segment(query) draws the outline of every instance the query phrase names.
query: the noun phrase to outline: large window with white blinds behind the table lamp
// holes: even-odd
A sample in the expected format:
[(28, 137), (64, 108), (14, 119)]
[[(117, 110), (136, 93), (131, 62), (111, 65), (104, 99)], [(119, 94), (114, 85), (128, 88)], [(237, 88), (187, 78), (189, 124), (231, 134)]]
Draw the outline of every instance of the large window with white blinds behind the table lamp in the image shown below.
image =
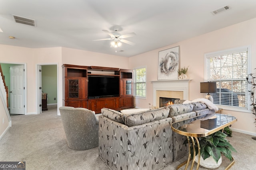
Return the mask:
[[(205, 55), (206, 81), (216, 82), (213, 103), (225, 109), (250, 111), (246, 76), (249, 70), (249, 47), (231, 49)], [(239, 111), (242, 111), (239, 110)]]

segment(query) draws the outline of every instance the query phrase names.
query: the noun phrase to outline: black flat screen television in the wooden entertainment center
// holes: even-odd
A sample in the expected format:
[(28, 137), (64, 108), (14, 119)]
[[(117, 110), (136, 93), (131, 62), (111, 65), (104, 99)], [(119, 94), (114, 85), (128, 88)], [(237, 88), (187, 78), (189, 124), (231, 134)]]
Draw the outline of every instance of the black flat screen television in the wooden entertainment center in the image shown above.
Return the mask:
[(119, 96), (119, 77), (88, 76), (88, 98)]

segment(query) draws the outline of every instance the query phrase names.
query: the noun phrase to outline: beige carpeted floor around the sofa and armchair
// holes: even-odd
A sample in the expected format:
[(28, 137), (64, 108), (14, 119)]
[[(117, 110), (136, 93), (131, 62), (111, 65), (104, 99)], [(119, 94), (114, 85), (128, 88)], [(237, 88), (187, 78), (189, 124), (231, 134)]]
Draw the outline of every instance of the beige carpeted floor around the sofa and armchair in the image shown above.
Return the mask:
[[(108, 170), (98, 156), (98, 147), (82, 151), (68, 148), (56, 106), (48, 106), (48, 111), (39, 115), (13, 115), (11, 118), (12, 127), (0, 141), (0, 161), (26, 161), (26, 170)], [(230, 170), (256, 169), (256, 141), (251, 137), (238, 132), (228, 137), (237, 150), (232, 153), (235, 164)], [(174, 170), (184, 160), (186, 156), (162, 170)], [(229, 163), (222, 156), (217, 170), (224, 170)]]

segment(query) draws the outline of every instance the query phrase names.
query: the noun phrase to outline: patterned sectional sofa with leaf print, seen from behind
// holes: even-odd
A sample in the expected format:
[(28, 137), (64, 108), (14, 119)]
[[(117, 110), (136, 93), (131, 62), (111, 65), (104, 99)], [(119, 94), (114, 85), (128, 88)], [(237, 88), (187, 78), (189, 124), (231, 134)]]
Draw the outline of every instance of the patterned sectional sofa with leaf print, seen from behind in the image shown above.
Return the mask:
[(182, 158), (188, 147), (173, 122), (215, 114), (205, 104), (174, 104), (124, 114), (103, 108), (99, 116), (99, 156), (111, 170), (159, 170)]

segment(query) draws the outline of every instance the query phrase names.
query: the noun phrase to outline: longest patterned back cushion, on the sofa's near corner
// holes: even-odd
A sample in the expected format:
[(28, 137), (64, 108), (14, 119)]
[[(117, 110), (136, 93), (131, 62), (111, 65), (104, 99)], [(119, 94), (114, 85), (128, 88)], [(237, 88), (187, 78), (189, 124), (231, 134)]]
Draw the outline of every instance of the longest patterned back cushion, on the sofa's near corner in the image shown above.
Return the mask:
[(141, 111), (138, 113), (132, 113), (130, 115), (123, 115), (125, 117), (125, 125), (131, 127), (167, 118), (169, 110), (170, 109), (165, 106), (158, 109)]

